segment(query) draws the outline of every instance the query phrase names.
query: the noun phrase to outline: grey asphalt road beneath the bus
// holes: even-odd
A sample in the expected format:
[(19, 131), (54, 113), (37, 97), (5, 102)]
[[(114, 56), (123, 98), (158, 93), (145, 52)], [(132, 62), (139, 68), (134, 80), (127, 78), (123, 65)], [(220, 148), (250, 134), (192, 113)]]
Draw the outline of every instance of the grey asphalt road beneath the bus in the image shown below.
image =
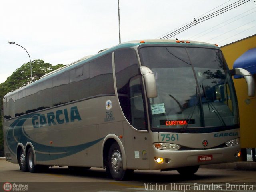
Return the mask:
[(53, 167), (47, 172), (30, 173), (17, 164), (0, 160), (0, 191), (54, 192), (143, 192), (143, 191), (255, 191), (256, 172), (200, 168), (184, 177), (176, 171), (134, 171), (126, 182), (108, 178), (102, 168), (81, 172)]

